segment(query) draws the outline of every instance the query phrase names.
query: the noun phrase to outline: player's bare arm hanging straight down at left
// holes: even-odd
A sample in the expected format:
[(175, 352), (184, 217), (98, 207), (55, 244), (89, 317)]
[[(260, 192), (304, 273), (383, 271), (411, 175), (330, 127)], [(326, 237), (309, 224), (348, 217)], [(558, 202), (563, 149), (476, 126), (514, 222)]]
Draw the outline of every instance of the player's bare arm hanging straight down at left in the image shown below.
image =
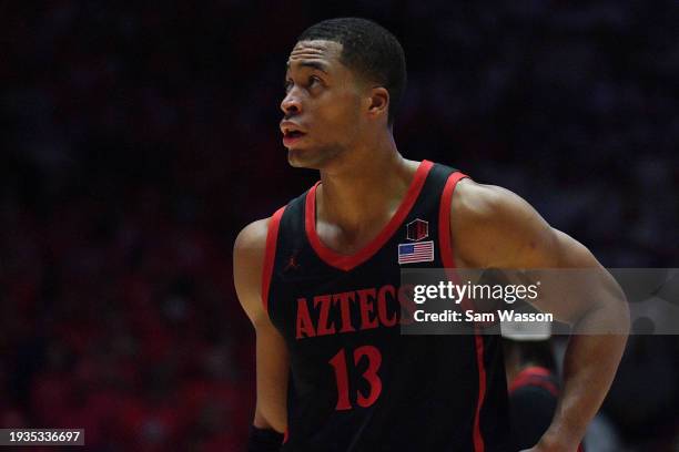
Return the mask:
[(285, 342), (272, 325), (262, 302), (262, 267), (268, 219), (254, 222), (236, 238), (233, 274), (243, 309), (255, 328), (257, 402), (254, 425), (283, 433), (287, 427), (287, 378), (290, 361)]

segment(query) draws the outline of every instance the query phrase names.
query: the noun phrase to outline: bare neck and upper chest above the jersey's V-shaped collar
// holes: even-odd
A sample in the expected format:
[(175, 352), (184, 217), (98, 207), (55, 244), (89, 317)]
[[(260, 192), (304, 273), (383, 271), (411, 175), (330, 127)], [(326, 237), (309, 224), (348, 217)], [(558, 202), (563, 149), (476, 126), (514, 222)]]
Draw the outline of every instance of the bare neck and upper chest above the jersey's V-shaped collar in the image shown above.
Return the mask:
[(355, 251), (388, 223), (406, 195), (417, 163), (396, 146), (353, 153), (341, 168), (321, 171), (316, 191), (318, 233), (331, 247)]

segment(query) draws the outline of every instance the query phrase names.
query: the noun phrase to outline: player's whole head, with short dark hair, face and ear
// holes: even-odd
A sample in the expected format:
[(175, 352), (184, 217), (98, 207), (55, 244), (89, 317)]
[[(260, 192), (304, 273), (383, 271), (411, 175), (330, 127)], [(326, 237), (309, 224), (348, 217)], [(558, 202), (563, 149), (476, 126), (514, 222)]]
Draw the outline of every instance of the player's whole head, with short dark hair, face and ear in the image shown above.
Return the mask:
[(376, 132), (388, 133), (406, 83), (396, 38), (365, 19), (331, 19), (304, 31), (285, 74), (281, 123), (288, 161), (321, 168)]

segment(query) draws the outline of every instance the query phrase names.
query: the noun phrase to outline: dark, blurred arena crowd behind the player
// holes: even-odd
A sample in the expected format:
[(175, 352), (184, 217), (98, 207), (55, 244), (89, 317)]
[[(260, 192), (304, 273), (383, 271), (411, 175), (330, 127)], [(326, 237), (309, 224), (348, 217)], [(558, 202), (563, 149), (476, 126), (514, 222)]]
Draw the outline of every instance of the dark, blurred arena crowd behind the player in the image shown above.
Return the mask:
[[(677, 2), (8, 3), (0, 428), (242, 446), (232, 245), (316, 177), (287, 166), (278, 103), (295, 37), (336, 16), (404, 45), (405, 156), (517, 192), (606, 266), (679, 267)], [(630, 339), (604, 409), (625, 450), (679, 446), (678, 342)]]

